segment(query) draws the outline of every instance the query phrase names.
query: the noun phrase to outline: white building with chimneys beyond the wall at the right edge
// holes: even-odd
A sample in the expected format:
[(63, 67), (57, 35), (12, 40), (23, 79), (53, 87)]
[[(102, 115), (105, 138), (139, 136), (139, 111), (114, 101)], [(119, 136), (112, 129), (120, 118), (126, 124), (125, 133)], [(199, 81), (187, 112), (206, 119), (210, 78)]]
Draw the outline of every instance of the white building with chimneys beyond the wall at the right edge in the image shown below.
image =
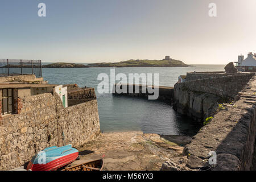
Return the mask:
[(256, 71), (256, 54), (252, 52), (248, 53), (248, 56), (243, 60), (243, 56), (238, 56), (237, 68), (242, 69), (243, 71), (254, 72)]

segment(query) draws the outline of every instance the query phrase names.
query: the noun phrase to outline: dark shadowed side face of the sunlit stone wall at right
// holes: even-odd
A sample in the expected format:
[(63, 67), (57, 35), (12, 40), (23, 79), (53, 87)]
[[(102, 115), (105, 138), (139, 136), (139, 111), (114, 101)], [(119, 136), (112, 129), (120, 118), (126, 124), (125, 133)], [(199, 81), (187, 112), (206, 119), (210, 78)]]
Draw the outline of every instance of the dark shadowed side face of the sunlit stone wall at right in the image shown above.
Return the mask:
[(213, 170), (250, 170), (255, 141), (255, 109), (247, 109), (232, 131), (217, 147), (217, 166)]

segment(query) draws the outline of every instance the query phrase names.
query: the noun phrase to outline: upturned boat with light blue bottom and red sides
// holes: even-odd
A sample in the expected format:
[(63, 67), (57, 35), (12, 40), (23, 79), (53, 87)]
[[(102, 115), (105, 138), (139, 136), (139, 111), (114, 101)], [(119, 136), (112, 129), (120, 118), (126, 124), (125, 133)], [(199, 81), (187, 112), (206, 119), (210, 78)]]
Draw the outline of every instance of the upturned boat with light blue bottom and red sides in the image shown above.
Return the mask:
[(55, 171), (79, 157), (79, 151), (71, 144), (63, 147), (47, 147), (35, 155), (27, 165), (27, 170)]

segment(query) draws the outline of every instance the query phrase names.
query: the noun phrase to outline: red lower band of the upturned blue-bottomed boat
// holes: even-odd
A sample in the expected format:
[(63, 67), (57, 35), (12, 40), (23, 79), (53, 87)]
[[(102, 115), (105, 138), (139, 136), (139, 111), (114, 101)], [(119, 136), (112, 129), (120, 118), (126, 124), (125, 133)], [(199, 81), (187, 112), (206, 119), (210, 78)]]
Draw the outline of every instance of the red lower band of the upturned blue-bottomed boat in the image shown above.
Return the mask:
[(55, 171), (60, 167), (63, 167), (69, 163), (72, 163), (79, 156), (78, 152), (63, 156), (59, 159), (52, 160), (47, 164), (33, 164), (28, 163), (27, 170), (31, 169), (32, 171)]

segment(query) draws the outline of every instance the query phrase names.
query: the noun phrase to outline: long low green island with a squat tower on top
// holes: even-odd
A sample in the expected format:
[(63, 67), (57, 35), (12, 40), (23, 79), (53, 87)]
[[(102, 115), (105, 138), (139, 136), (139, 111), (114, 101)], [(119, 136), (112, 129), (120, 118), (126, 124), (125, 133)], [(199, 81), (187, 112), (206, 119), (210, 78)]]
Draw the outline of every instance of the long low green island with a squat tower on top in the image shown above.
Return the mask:
[(191, 67), (183, 63), (183, 61), (175, 59), (163, 60), (128, 60), (118, 63), (93, 63), (88, 64), (89, 67)]

